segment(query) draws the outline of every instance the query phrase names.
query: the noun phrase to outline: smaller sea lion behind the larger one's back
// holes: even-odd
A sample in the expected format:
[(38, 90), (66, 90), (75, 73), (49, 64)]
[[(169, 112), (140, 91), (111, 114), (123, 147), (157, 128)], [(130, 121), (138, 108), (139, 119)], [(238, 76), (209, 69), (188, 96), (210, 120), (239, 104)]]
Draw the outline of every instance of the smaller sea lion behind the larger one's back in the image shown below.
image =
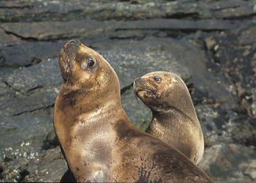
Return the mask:
[(169, 72), (153, 72), (134, 81), (134, 92), (152, 111), (146, 132), (172, 145), (196, 165), (204, 154), (204, 136), (186, 84)]

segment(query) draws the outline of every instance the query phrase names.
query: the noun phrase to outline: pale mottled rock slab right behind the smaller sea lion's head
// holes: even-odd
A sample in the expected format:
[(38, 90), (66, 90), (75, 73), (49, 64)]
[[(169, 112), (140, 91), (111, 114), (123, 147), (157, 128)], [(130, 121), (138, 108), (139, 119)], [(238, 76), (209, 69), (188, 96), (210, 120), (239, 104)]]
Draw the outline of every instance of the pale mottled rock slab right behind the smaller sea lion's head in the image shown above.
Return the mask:
[(146, 73), (170, 71), (191, 76), (191, 82), (198, 90), (218, 98), (219, 102), (234, 101), (233, 94), (228, 91), (230, 84), (223, 77), (216, 80), (211, 75), (205, 67), (207, 59), (204, 52), (193, 41), (150, 37), (125, 43), (116, 41), (106, 50), (99, 52), (115, 69), (121, 88), (131, 85), (135, 78)]

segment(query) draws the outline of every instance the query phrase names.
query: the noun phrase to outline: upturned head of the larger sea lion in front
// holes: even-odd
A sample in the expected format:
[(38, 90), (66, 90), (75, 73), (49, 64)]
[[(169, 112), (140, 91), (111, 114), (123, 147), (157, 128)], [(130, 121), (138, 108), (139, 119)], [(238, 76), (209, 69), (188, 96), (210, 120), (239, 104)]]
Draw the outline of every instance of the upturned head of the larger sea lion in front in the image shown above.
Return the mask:
[(59, 64), (68, 92), (120, 91), (118, 77), (109, 63), (79, 40), (64, 45)]

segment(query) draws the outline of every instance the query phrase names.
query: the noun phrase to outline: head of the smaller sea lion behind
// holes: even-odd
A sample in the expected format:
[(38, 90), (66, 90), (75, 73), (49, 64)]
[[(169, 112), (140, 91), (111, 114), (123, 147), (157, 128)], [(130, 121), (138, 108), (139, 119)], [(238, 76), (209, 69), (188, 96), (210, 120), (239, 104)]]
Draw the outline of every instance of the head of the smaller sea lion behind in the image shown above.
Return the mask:
[(182, 99), (189, 94), (178, 75), (164, 71), (152, 72), (136, 78), (133, 88), (135, 94), (152, 112), (180, 108), (184, 105)]

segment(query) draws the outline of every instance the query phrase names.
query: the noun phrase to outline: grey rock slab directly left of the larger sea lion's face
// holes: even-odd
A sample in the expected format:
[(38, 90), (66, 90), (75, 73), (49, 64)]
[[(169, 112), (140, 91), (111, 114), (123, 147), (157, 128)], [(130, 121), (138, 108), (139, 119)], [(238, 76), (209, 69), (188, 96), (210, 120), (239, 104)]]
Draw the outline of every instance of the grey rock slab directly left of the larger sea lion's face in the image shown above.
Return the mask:
[(42, 86), (60, 85), (62, 82), (58, 59), (49, 59), (28, 68), (19, 68), (3, 77), (3, 81), (22, 94)]

